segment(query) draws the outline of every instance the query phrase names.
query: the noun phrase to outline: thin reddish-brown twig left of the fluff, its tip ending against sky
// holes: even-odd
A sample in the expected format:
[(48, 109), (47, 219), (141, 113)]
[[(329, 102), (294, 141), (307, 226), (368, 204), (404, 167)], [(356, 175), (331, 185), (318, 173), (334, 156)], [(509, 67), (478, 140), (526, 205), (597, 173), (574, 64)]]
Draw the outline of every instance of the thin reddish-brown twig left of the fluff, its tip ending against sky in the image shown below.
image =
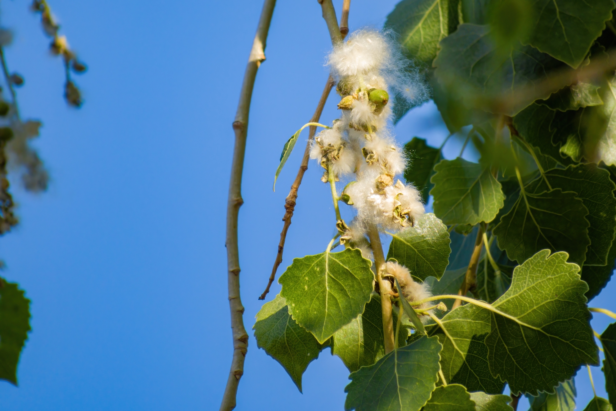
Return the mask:
[[(315, 110), (310, 123), (317, 123), (319, 118), (321, 117), (321, 113), (323, 112), (323, 107), (325, 107), (325, 102), (327, 101), (327, 97), (330, 95), (331, 88), (334, 86), (334, 80), (329, 76), (327, 79), (327, 83), (325, 83), (325, 88), (323, 89), (323, 93), (321, 94), (321, 99), (318, 100), (317, 110)], [(317, 126), (310, 126), (310, 132), (308, 134), (308, 142), (306, 144), (306, 150), (304, 150), (304, 157), (302, 158), (302, 164), (299, 166), (298, 175), (295, 177), (295, 181), (293, 185), (291, 185), (291, 191), (289, 195), (286, 196), (285, 200), (285, 216), (282, 218), (282, 221), (285, 222), (285, 225), (282, 227), (282, 232), (280, 232), (280, 242), (278, 243), (278, 254), (276, 254), (276, 260), (274, 261), (274, 267), (272, 267), (272, 274), (270, 275), (269, 282), (267, 282), (267, 287), (265, 287), (265, 291), (261, 294), (259, 299), (265, 299), (267, 293), (269, 293), (270, 287), (272, 287), (272, 283), (274, 283), (274, 279), (276, 277), (276, 271), (278, 271), (278, 266), (282, 263), (282, 252), (285, 248), (286, 241), (286, 232), (289, 230), (291, 226), (291, 218), (293, 217), (293, 213), (295, 211), (296, 200), (298, 198), (298, 189), (299, 185), (302, 184), (302, 179), (304, 178), (304, 173), (308, 169), (308, 160), (310, 158), (310, 142), (314, 138), (314, 134), (317, 131)]]

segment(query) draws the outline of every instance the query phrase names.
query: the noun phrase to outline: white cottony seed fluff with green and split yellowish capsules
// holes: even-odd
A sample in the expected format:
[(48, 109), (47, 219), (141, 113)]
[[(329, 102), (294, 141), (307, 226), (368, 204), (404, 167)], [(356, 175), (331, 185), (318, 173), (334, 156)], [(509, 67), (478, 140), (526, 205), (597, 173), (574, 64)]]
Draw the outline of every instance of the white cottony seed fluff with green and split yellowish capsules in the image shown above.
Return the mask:
[(328, 181), (328, 170), (336, 181), (351, 180), (342, 199), (357, 209), (352, 225), (361, 235), (370, 224), (391, 232), (412, 226), (424, 206), (418, 190), (397, 178), (406, 159), (389, 127), (389, 96), (416, 104), (425, 98), (425, 86), (395, 42), (375, 30), (355, 31), (334, 48), (328, 65), (338, 81), (342, 116), (315, 136), (310, 150), (325, 168), (322, 181)]

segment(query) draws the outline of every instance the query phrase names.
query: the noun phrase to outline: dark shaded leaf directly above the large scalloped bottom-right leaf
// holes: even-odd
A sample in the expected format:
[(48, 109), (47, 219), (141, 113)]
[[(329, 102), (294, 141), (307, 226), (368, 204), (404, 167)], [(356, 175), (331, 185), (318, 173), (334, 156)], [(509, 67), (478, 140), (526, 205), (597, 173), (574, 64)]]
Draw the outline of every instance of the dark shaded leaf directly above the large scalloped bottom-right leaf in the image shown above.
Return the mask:
[(554, 189), (521, 195), (501, 218), (493, 234), (509, 259), (519, 264), (543, 248), (567, 251), (570, 261), (582, 265), (590, 245), (588, 209), (577, 193)]

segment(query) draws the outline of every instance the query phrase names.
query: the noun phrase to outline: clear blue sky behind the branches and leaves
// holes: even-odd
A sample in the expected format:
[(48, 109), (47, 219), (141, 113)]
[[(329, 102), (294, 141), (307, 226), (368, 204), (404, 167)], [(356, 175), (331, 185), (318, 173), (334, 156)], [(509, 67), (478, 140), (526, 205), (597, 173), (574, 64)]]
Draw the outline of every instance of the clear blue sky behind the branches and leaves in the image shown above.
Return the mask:
[[(232, 354), (224, 248), (231, 123), (261, 1), (52, 0), (62, 34), (89, 65), (76, 76), (81, 110), (64, 104), (62, 64), (47, 52), (28, 4), (2, 2), (0, 23), (15, 33), (7, 59), (25, 78), (23, 117), (44, 123), (35, 145), (52, 181), (41, 195), (13, 181), (21, 224), (0, 239), (4, 275), (32, 300), (33, 327), (19, 388), (0, 382), (2, 408), (217, 409)], [(394, 4), (354, 0), (351, 30), (381, 27)], [(254, 89), (240, 211), (247, 329), (261, 307), (302, 152), (291, 155), (274, 193), (280, 150), (314, 112), (329, 49), (317, 1), (278, 1)], [(336, 118), (334, 100), (325, 123)], [(400, 121), (397, 134), (400, 142), (420, 136), (439, 144), (447, 130), (426, 104)], [(460, 146), (452, 139), (445, 155), (455, 157)], [(310, 164), (281, 269), (330, 239), (333, 210), (320, 174)], [(609, 285), (593, 305), (615, 310), (614, 291)], [(607, 324), (605, 316), (593, 320), (599, 332)], [(605, 396), (601, 372), (593, 371)], [(347, 376), (323, 351), (300, 394), (251, 337), (238, 409), (341, 410)], [(583, 409), (592, 395), (585, 370), (577, 386)]]

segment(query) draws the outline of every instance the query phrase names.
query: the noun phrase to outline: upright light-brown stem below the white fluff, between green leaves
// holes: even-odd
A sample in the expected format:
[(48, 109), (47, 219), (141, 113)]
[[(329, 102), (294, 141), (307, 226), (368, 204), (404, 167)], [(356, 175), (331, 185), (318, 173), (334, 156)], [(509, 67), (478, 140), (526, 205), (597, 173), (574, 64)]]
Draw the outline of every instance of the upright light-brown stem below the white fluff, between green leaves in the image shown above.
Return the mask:
[(385, 255), (379, 231), (374, 224), (368, 227), (368, 238), (372, 253), (375, 256), (376, 279), (381, 290), (381, 317), (383, 318), (383, 337), (385, 340), (385, 354), (395, 348), (394, 344), (394, 319), (392, 316), (391, 304), (391, 282), (383, 278), (383, 268), (385, 266)]

